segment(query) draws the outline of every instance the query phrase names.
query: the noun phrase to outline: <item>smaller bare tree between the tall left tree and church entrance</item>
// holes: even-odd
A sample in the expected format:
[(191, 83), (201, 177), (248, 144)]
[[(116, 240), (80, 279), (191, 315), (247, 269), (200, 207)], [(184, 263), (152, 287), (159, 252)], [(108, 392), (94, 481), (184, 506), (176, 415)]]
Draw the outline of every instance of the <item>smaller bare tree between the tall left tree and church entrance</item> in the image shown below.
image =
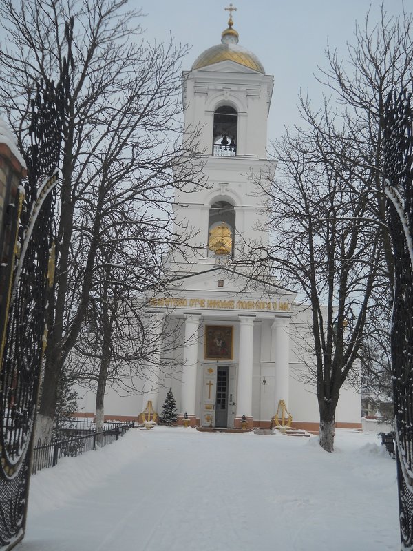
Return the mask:
[[(134, 394), (150, 384), (158, 390), (160, 374), (176, 367), (160, 363), (169, 340), (162, 319), (148, 311), (143, 293), (149, 285), (155, 291), (166, 284), (161, 252), (172, 236), (160, 230), (158, 220), (134, 216), (124, 213), (125, 225), (105, 224), (87, 313), (67, 359), (72, 381), (96, 392), (98, 429), (104, 422), (107, 385)], [(172, 242), (178, 246), (178, 238)]]

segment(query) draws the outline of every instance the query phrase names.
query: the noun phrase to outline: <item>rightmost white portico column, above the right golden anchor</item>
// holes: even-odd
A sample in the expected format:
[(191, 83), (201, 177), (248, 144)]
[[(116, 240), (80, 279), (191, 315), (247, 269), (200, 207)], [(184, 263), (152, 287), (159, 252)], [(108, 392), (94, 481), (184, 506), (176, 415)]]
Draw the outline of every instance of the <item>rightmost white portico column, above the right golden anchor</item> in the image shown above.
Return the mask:
[(279, 400), (288, 408), (290, 387), (290, 319), (275, 318), (271, 325), (271, 361), (275, 362), (275, 409)]

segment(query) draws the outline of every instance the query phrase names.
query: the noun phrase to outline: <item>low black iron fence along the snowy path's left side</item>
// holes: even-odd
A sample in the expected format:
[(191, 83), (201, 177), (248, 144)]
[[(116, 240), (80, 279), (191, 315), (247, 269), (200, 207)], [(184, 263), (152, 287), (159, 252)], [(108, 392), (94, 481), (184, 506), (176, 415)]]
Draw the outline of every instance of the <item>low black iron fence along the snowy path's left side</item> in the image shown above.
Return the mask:
[(97, 448), (103, 448), (107, 444), (112, 444), (120, 436), (127, 433), (129, 428), (134, 427), (133, 421), (110, 423), (109, 426), (98, 431), (92, 427), (92, 424), (93, 422), (83, 422), (80, 424), (80, 426), (83, 425), (83, 428), (69, 428), (68, 430), (72, 432), (77, 430), (81, 434), (59, 438), (50, 442), (50, 444), (47, 442), (47, 439), (41, 444), (39, 439), (37, 446), (33, 448), (32, 473), (35, 474), (41, 469), (54, 467), (61, 457), (77, 457), (90, 450), (96, 450)]

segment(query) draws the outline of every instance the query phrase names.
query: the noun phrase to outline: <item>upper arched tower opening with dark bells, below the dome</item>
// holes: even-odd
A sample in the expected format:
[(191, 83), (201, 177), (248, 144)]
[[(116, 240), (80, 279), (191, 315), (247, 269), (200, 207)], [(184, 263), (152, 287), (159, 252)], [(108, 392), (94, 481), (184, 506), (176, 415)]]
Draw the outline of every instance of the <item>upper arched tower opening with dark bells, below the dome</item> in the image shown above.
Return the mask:
[(213, 115), (212, 153), (221, 157), (235, 157), (237, 154), (238, 115), (233, 107), (222, 105)]

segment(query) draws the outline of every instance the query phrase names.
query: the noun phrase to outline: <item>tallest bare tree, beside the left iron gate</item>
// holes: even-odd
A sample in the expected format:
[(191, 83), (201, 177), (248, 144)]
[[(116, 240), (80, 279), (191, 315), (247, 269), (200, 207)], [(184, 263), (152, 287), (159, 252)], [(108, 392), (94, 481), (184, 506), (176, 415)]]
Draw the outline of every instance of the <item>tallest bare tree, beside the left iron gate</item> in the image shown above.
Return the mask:
[[(171, 218), (171, 189), (198, 184), (192, 143), (182, 143), (178, 67), (185, 47), (145, 44), (125, 0), (1, 0), (0, 107), (21, 143), (35, 81), (65, 82), (67, 104), (38, 435), (51, 433), (61, 368), (76, 343), (107, 211), (140, 209), (158, 227)], [(190, 185), (187, 187), (189, 189)], [(127, 207), (127, 208), (126, 208)], [(156, 218), (154, 209), (162, 209)], [(87, 223), (78, 218), (87, 212)], [(116, 220), (122, 225), (123, 220)], [(81, 261), (79, 261), (79, 259)], [(76, 288), (76, 292), (73, 290)]]

